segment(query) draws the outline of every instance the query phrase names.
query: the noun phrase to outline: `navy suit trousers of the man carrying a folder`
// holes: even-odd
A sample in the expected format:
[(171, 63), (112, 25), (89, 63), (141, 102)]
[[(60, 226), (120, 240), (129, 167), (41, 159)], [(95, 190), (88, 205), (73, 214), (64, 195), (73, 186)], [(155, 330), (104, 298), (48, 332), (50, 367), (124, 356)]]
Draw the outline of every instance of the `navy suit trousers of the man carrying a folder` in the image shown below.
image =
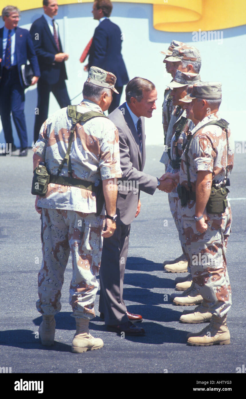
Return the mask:
[(25, 124), (25, 94), (21, 87), (17, 66), (3, 67), (0, 83), (0, 114), (6, 143), (14, 144), (10, 112), (20, 139), (21, 149), (27, 147), (27, 128)]

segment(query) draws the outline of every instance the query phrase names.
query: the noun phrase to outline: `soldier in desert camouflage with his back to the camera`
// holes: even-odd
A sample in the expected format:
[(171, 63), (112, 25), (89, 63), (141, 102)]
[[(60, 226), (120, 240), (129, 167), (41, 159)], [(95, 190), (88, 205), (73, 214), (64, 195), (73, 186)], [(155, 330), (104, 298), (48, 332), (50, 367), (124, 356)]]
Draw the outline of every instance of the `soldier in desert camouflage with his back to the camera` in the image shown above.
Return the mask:
[[(94, 111), (99, 116), (103, 115), (103, 111), (108, 109), (112, 101), (115, 81), (115, 75), (91, 67), (84, 83), (84, 99), (76, 106), (76, 112), (84, 114)], [(68, 109), (57, 111), (43, 123), (39, 140), (33, 147), (34, 168), (39, 162), (45, 161), (51, 175), (47, 194), (37, 197), (35, 202), (37, 211), (41, 213), (43, 250), (43, 262), (38, 276), (39, 300), (36, 306), (43, 315), (43, 322), (39, 327), (42, 344), (53, 345), (54, 316), (61, 310), (61, 288), (71, 252), (73, 272), (70, 304), (77, 328), (72, 352), (80, 353), (103, 346), (100, 338), (89, 334), (88, 327), (89, 320), (95, 316), (94, 300), (98, 290), (96, 275), (102, 255), (102, 238), (111, 237), (116, 228), (115, 221), (106, 218), (106, 229), (103, 231), (105, 207), (107, 215), (113, 219), (116, 213), (116, 181), (122, 174), (117, 128), (106, 117), (93, 117), (84, 123), (76, 123), (70, 149), (72, 176), (68, 177), (68, 161), (58, 176), (60, 180), (57, 180), (72, 126)], [(71, 183), (70, 178), (73, 179)], [(97, 215), (94, 190), (100, 180), (105, 207)], [(81, 187), (76, 186), (76, 182), (84, 183)], [(95, 189), (86, 189), (89, 185)]]

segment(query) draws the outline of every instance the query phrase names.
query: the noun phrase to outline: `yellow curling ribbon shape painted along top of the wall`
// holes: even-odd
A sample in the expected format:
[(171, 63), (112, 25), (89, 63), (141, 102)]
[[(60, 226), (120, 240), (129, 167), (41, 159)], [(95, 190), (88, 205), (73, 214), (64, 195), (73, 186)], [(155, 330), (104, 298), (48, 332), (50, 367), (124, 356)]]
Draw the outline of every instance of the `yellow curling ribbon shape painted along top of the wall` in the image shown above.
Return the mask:
[[(59, 0), (58, 4), (87, 3), (88, 0)], [(246, 24), (245, 0), (114, 0), (153, 4), (153, 26), (166, 32), (221, 30)], [(13, 2), (21, 11), (41, 8), (42, 0)], [(90, 1), (93, 3), (93, 1)], [(0, 9), (6, 0), (0, 0)], [(134, 17), (134, 16), (133, 16)]]

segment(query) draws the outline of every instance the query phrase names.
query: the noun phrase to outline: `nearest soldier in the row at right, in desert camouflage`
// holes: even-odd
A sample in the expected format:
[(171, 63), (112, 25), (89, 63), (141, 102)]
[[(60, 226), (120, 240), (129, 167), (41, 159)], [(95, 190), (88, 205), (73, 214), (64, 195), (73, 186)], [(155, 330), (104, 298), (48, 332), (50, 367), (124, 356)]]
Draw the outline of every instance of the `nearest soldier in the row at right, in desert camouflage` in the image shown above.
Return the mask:
[(194, 117), (200, 122), (191, 131), (182, 155), (179, 178), (185, 192), (181, 190), (180, 201), (182, 204), (185, 194), (187, 203), (183, 202), (181, 212), (187, 256), (195, 289), (203, 303), (190, 314), (182, 315), (180, 321), (201, 323), (211, 319), (207, 328), (187, 335), (190, 345), (230, 344), (226, 317), (231, 306), (231, 288), (226, 249), (232, 216), (226, 185), (233, 167), (234, 141), (228, 123), (218, 112), (221, 83), (198, 83), (185, 100), (192, 100)]

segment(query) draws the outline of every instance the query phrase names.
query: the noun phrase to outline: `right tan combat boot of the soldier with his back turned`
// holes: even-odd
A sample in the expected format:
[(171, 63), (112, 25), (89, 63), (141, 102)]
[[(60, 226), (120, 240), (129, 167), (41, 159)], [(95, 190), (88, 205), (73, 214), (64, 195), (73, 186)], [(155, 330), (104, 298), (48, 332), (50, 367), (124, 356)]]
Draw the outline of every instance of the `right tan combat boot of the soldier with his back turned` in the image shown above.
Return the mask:
[(94, 338), (89, 334), (89, 320), (82, 318), (75, 318), (76, 333), (72, 340), (72, 352), (83, 353), (87, 350), (95, 350), (103, 347), (103, 340)]

